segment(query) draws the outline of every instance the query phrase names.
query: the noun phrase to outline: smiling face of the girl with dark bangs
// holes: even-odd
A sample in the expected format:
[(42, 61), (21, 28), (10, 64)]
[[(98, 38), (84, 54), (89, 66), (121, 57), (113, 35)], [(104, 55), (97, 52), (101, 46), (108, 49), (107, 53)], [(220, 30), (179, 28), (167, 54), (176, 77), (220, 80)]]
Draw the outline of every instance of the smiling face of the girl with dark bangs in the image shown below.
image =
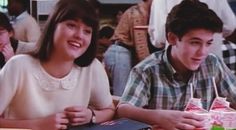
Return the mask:
[(92, 27), (81, 20), (66, 20), (58, 23), (54, 34), (54, 55), (65, 60), (74, 60), (88, 49)]

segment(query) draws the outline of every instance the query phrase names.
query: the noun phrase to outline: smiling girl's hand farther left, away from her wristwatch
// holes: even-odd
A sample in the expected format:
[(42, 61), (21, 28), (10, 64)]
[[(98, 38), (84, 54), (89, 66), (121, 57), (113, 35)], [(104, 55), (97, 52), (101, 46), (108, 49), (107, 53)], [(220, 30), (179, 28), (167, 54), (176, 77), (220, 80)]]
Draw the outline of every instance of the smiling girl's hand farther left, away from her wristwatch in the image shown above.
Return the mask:
[(33, 130), (66, 130), (69, 120), (65, 113), (56, 113), (54, 115), (39, 119), (37, 128)]

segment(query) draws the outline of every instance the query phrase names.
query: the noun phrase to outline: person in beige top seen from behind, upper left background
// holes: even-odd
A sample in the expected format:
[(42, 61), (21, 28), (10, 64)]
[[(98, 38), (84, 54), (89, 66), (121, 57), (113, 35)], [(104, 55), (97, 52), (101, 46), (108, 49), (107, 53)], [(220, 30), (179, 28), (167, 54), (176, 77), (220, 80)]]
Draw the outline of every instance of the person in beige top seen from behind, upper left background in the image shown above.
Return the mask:
[(23, 42), (37, 42), (41, 31), (36, 20), (27, 12), (29, 0), (8, 0), (8, 13), (14, 16), (12, 21), (14, 37)]

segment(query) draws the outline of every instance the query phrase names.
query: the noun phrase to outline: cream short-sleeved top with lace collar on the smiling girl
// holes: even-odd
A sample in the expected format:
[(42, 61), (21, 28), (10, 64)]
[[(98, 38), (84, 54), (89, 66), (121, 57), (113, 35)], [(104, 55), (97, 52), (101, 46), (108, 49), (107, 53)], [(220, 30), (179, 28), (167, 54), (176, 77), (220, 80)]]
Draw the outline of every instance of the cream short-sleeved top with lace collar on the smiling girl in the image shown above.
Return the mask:
[(0, 71), (0, 115), (6, 119), (35, 119), (89, 104), (95, 108), (112, 104), (108, 78), (97, 59), (88, 67), (74, 65), (60, 79), (29, 55), (12, 57)]

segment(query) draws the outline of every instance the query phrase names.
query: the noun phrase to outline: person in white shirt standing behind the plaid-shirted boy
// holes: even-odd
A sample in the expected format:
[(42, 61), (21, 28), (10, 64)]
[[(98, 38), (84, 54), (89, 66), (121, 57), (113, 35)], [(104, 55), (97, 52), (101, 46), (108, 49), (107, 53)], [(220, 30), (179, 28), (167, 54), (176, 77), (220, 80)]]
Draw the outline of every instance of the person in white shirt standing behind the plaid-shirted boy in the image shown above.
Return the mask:
[[(168, 45), (165, 44), (165, 23), (167, 14), (170, 10), (176, 5), (179, 4), (182, 0), (155, 0), (153, 1), (149, 19), (149, 33), (150, 39), (154, 46)], [(210, 52), (216, 54), (220, 58), (222, 57), (221, 45), (223, 44), (224, 38), (233, 41), (234, 31), (236, 29), (236, 17), (234, 12), (229, 6), (228, 0), (199, 0), (208, 5), (223, 22), (223, 31), (222, 33), (214, 37), (214, 45)], [(236, 32), (235, 32), (236, 33)], [(235, 36), (235, 35), (234, 35)], [(235, 36), (236, 37), (236, 36)]]

